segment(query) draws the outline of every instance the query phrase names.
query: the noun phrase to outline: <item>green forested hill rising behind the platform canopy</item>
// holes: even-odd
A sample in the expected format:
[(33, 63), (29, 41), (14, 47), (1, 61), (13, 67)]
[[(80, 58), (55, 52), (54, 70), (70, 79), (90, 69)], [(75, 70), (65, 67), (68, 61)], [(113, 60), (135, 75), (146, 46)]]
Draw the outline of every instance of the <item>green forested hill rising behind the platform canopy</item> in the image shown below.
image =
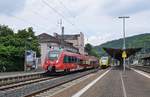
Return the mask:
[[(123, 46), (123, 39), (113, 40), (106, 43), (103, 43), (99, 46), (95, 46), (95, 49), (98, 50), (100, 55), (105, 55), (105, 52), (103, 51), (103, 47), (109, 47), (109, 48), (122, 48)], [(150, 33), (135, 35), (131, 37), (126, 38), (126, 48), (139, 48), (139, 47), (145, 47), (150, 48)]]

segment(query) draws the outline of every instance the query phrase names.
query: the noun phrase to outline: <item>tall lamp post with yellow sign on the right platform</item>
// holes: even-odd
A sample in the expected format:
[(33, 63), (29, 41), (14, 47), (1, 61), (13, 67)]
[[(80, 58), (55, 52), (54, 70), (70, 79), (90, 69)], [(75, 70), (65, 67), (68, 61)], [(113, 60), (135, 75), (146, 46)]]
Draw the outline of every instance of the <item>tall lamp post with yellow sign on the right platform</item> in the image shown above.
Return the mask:
[(121, 16), (118, 17), (119, 19), (123, 19), (123, 71), (125, 71), (125, 64), (126, 64), (126, 42), (125, 42), (125, 19), (130, 18), (129, 16)]

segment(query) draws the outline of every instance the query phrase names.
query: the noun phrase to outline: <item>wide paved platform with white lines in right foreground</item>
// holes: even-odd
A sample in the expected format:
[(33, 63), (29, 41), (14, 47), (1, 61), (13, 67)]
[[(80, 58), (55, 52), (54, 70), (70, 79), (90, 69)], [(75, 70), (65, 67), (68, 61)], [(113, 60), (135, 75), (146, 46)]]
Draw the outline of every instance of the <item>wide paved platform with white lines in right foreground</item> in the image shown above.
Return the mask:
[(52, 97), (150, 97), (150, 74), (118, 67), (100, 70)]

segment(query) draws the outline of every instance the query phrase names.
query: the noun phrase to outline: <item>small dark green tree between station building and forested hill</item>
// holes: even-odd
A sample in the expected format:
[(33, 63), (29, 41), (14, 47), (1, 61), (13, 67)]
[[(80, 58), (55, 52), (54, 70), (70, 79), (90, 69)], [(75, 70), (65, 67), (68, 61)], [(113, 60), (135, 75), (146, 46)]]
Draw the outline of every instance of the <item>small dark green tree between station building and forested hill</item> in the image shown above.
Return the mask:
[(87, 43), (85, 45), (84, 49), (85, 49), (85, 52), (87, 52), (89, 55), (95, 56), (95, 57), (98, 57), (98, 58), (100, 57), (97, 50), (95, 48), (93, 48), (93, 46), (91, 44)]

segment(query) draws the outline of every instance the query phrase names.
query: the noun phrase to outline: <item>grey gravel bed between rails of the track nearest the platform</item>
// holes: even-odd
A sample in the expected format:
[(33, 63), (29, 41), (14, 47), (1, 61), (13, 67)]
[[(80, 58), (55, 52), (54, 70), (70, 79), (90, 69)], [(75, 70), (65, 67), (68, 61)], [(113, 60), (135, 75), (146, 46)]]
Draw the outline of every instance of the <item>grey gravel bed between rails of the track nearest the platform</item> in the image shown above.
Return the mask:
[(26, 85), (23, 87), (18, 87), (11, 90), (0, 91), (0, 97), (23, 97), (23, 96), (30, 96), (34, 93), (38, 93), (40, 91), (50, 89), (61, 84), (67, 83), (74, 79), (80, 78), (85, 76), (89, 73), (95, 72), (95, 70), (88, 70), (84, 72), (78, 72), (74, 74), (65, 75), (59, 78), (54, 78), (51, 80), (41, 81), (38, 83), (33, 83), (30, 85)]

